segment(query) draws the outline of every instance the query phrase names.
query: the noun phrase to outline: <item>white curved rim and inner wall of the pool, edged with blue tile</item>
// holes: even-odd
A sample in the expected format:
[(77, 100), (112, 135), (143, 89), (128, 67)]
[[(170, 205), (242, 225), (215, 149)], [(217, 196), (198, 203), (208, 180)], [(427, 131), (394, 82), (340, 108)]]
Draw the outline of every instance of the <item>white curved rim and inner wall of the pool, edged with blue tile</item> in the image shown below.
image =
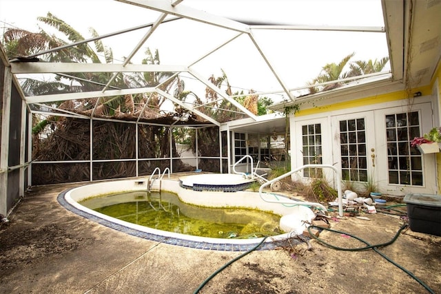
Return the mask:
[[(221, 175), (218, 175), (220, 178)], [(143, 227), (138, 224), (124, 222), (116, 218), (105, 216), (92, 209), (83, 207), (78, 202), (109, 193), (119, 193), (127, 191), (146, 191), (147, 178), (136, 180), (113, 180), (110, 182), (98, 182), (81, 187), (76, 187), (68, 191), (63, 191), (57, 198), (63, 207), (79, 214), (85, 218), (99, 222), (107, 227), (123, 231), (130, 235), (136, 235), (148, 240), (163, 242), (179, 246), (187, 246), (195, 249), (218, 250), (218, 251), (247, 251), (252, 249), (256, 244), (262, 241), (262, 238), (256, 239), (222, 239), (222, 238), (205, 238), (194, 235), (184, 235), (181, 233), (173, 233)], [(261, 211), (269, 211), (280, 216), (296, 216), (295, 221), (298, 225), (305, 226), (302, 220), (311, 221), (315, 214), (308, 207), (298, 205), (298, 202), (291, 200), (292, 204), (268, 203), (260, 198), (259, 193), (252, 191), (236, 191), (234, 193), (225, 193), (223, 191), (194, 191), (179, 185), (179, 180), (155, 180), (152, 189), (170, 191), (178, 194), (179, 198), (185, 203), (194, 204), (204, 207), (247, 207), (249, 209), (258, 209)], [(283, 202), (290, 202), (284, 198)], [(265, 240), (260, 250), (274, 249), (279, 246), (278, 242), (286, 240), (289, 233), (276, 235)]]

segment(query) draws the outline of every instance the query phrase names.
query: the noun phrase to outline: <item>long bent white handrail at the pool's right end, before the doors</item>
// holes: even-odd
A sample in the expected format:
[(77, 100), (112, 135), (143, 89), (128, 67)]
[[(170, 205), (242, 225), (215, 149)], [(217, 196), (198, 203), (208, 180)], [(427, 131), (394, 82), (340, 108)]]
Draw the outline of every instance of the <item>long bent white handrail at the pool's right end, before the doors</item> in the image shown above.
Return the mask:
[[(282, 176), (278, 176), (277, 178), (274, 178), (272, 180), (269, 180), (268, 182), (263, 183), (263, 185), (261, 185), (260, 188), (259, 188), (259, 196), (260, 196), (260, 198), (262, 198), (263, 201), (270, 202), (270, 203), (293, 204), (292, 201), (291, 202), (280, 202), (280, 201), (266, 200), (262, 196), (263, 188), (271, 185), (273, 182), (277, 182), (278, 180), (286, 178), (287, 176), (291, 176), (291, 174), (294, 174), (297, 171), (300, 171), (302, 169), (307, 169), (309, 167), (329, 168), (329, 169), (332, 169), (332, 170), (334, 170), (336, 172), (336, 175), (337, 175), (337, 192), (338, 192), (338, 215), (339, 216), (343, 216), (342, 183), (341, 183), (341, 180), (340, 180), (340, 174), (338, 174), (338, 169), (336, 167), (334, 167), (333, 165), (303, 165), (302, 167), (298, 167), (297, 169), (293, 169), (291, 171), (288, 171), (286, 174), (283, 174)], [(324, 207), (322, 204), (317, 203), (317, 202), (303, 202), (303, 201), (296, 201), (296, 202), (298, 202), (298, 205), (309, 205), (309, 206), (320, 207), (320, 208), (325, 210), (325, 213), (327, 212), (327, 208)]]

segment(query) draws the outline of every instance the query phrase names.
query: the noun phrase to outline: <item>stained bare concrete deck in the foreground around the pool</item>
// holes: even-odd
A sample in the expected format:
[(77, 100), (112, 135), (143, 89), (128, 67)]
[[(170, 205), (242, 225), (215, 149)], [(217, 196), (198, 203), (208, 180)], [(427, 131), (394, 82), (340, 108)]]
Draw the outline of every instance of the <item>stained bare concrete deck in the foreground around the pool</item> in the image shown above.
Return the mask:
[[(174, 175), (178, 176), (178, 175)], [(194, 293), (243, 252), (192, 249), (145, 240), (85, 219), (57, 202), (84, 183), (32, 187), (0, 226), (0, 293)], [(336, 216), (335, 214), (333, 216)], [(402, 220), (333, 218), (331, 229), (370, 244), (388, 242)], [(335, 246), (364, 246), (322, 231)], [(429, 293), (371, 249), (338, 251), (317, 242), (254, 251), (227, 266), (200, 293)], [(378, 249), (433, 293), (441, 293), (441, 238), (405, 229)]]

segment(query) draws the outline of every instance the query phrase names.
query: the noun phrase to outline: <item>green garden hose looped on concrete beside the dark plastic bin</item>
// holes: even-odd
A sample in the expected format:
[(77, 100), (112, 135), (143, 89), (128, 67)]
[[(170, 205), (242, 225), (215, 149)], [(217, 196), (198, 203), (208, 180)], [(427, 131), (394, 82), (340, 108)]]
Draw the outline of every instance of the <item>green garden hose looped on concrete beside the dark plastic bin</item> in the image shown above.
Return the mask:
[[(364, 247), (358, 247), (358, 248), (342, 248), (342, 247), (334, 246), (334, 245), (331, 245), (331, 244), (329, 244), (329, 243), (327, 243), (327, 242), (321, 240), (321, 239), (318, 238), (316, 235), (314, 235), (314, 233), (312, 233), (312, 232), (310, 231), (310, 230), (313, 229), (313, 228), (320, 229), (320, 230), (324, 229), (324, 230), (331, 231), (331, 232), (334, 232), (334, 233), (340, 233), (340, 234), (349, 235), (350, 237), (355, 238), (355, 239), (359, 240), (360, 242), (365, 243), (367, 246), (364, 246)], [(432, 290), (429, 286), (427, 286), (426, 284), (424, 284), (424, 282), (422, 282), (420, 279), (418, 279), (418, 277), (416, 277), (415, 275), (413, 275), (413, 273), (411, 273), (411, 272), (408, 271), (407, 269), (404, 269), (404, 267), (400, 266), (400, 264), (397, 264), (396, 262), (393, 262), (393, 260), (391, 260), (390, 258), (388, 258), (387, 255), (384, 255), (384, 253), (382, 253), (381, 251), (378, 250), (379, 247), (384, 247), (384, 246), (390, 245), (390, 244), (392, 244), (393, 242), (395, 242), (395, 241), (397, 240), (398, 236), (400, 235), (401, 231), (404, 230), (405, 228), (407, 228), (407, 224), (403, 224), (402, 227), (400, 227), (400, 229), (399, 229), (398, 232), (396, 233), (396, 235), (395, 235), (395, 236), (392, 238), (392, 240), (390, 240), (389, 242), (382, 243), (382, 244), (374, 244), (374, 245), (369, 244), (369, 242), (367, 242), (367, 241), (365, 241), (365, 240), (362, 240), (362, 238), (359, 238), (359, 237), (357, 237), (357, 236), (355, 236), (355, 235), (351, 235), (351, 234), (349, 234), (349, 233), (342, 232), (342, 231), (336, 231), (336, 230), (333, 230), (333, 229), (317, 227), (317, 226), (314, 226), (314, 225), (311, 225), (311, 226), (308, 227), (308, 232), (309, 232), (309, 235), (310, 235), (312, 238), (316, 239), (318, 242), (320, 242), (320, 243), (322, 243), (322, 244), (325, 244), (326, 246), (328, 246), (328, 247), (331, 248), (331, 249), (336, 249), (336, 250), (340, 250), (340, 251), (364, 251), (364, 250), (367, 250), (367, 249), (373, 249), (373, 251), (375, 251), (376, 253), (380, 254), (380, 255), (382, 256), (382, 258), (384, 258), (384, 259), (387, 260), (388, 262), (391, 262), (391, 264), (397, 266), (398, 269), (401, 269), (402, 271), (404, 271), (404, 273), (407, 273), (407, 275), (410, 275), (411, 277), (413, 277), (413, 279), (416, 280), (418, 283), (420, 283), (424, 288), (426, 288), (426, 290), (429, 291), (429, 293), (431, 293), (431, 294), (435, 294), (435, 292), (433, 292), (433, 290)]]

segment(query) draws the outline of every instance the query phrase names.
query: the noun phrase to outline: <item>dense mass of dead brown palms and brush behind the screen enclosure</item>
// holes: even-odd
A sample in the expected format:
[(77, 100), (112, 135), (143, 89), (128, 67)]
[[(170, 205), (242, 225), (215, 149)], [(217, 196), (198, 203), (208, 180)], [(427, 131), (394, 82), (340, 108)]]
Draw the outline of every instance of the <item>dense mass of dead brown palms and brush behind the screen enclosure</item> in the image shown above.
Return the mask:
[[(39, 32), (28, 32), (17, 28), (6, 30), (3, 39), (10, 59), (23, 58), (23, 56), (85, 39), (68, 23), (58, 19), (50, 12), (46, 17), (39, 17), (38, 20), (51, 29), (57, 30), (57, 34), (45, 32), (43, 26), (39, 27)], [(90, 32), (92, 36), (99, 35), (92, 28)], [(111, 48), (105, 47), (101, 40), (96, 40), (52, 51), (38, 56), (38, 59), (49, 62), (113, 63), (113, 54)], [(37, 61), (37, 59), (35, 60)], [(158, 50), (152, 52), (150, 48), (147, 48), (142, 63), (160, 64)], [(231, 96), (233, 95), (231, 86), (225, 72), (222, 71), (222, 73), (222, 76), (218, 78), (211, 76), (209, 81), (219, 88), (226, 84), (225, 93)], [(245, 117), (236, 111), (237, 107), (233, 103), (219, 98), (218, 92), (207, 87), (205, 97), (198, 97), (194, 92), (185, 90), (185, 83), (180, 76), (172, 76), (172, 74), (170, 72), (139, 72), (123, 73), (112, 77), (112, 73), (76, 72), (58, 74), (54, 79), (46, 81), (29, 77), (23, 79), (21, 85), (28, 96), (99, 91), (109, 81), (111, 81), (110, 90), (158, 86), (159, 90), (167, 94), (170, 93), (180, 101), (204, 105), (198, 107), (198, 110), (220, 122)], [(266, 114), (267, 106), (272, 101), (265, 97), (258, 99), (258, 95), (255, 95), (252, 90), (250, 93), (240, 93), (240, 95), (236, 93), (238, 95), (236, 101), (246, 105), (255, 114)], [(174, 124), (178, 126), (184, 125), (186, 121), (197, 125), (198, 123), (207, 123), (207, 121), (201, 116), (188, 112), (178, 103), (174, 103), (174, 109), (171, 112), (164, 112), (161, 110), (161, 105), (166, 100), (166, 96), (154, 92), (46, 103), (47, 107), (63, 109), (81, 116), (127, 120), (128, 123), (106, 122), (104, 120), (92, 120), (91, 123), (91, 120), (81, 118), (34, 115), (32, 118), (32, 160), (36, 164), (32, 169), (32, 182), (34, 185), (43, 185), (90, 180), (91, 174), (94, 180), (123, 178), (136, 176), (136, 171), (139, 176), (142, 176), (151, 174), (155, 167), (160, 167), (161, 170), (169, 167), (170, 159), (168, 158), (179, 157), (176, 152), (175, 140), (196, 149), (196, 132), (194, 128), (175, 127), (171, 129), (170, 127), (161, 127), (161, 125)], [(34, 107), (46, 107), (43, 104)], [(139, 124), (136, 127), (133, 122), (138, 120), (141, 123), (153, 124)], [(170, 130), (172, 130), (173, 136), (170, 136)], [(92, 146), (90, 146), (91, 134)], [(218, 137), (218, 127), (198, 129), (198, 154), (207, 157), (199, 164), (199, 168), (204, 171), (218, 172), (220, 169), (219, 160), (209, 158), (220, 155)], [(172, 142), (170, 142), (170, 138)], [(136, 143), (138, 143), (137, 150)], [(139, 158), (138, 166), (136, 158)], [(148, 158), (155, 160), (152, 162), (147, 160)], [(100, 161), (91, 165), (91, 159)], [(105, 162), (106, 160), (117, 161)], [(63, 161), (65, 163), (38, 163), (39, 161)], [(226, 168), (225, 163), (224, 170)], [(173, 172), (189, 169), (193, 169), (193, 167), (184, 165), (179, 159), (174, 160)]]

